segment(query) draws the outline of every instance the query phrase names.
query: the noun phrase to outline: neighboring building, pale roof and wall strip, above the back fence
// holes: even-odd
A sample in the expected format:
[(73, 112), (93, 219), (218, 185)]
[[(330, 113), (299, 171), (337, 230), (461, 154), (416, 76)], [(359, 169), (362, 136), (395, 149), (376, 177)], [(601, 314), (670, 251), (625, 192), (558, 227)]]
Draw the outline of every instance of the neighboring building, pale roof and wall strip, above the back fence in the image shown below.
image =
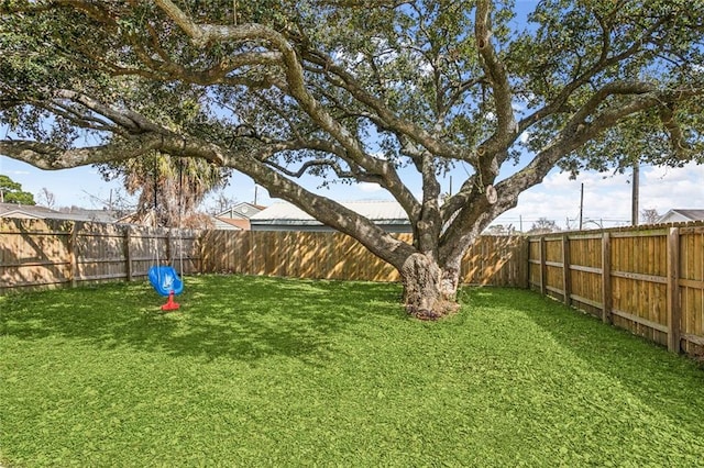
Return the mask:
[[(388, 232), (410, 232), (408, 215), (395, 201), (351, 201), (341, 202), (384, 227)], [(277, 202), (250, 219), (252, 231), (332, 231), (320, 221), (287, 203)]]

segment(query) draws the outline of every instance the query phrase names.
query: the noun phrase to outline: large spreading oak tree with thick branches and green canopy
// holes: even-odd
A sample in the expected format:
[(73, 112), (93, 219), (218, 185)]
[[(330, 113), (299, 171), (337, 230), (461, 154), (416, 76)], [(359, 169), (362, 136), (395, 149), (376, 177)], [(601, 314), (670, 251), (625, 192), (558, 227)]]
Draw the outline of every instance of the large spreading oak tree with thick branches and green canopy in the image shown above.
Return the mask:
[[(464, 252), (556, 166), (702, 158), (703, 2), (544, 0), (528, 22), (508, 0), (0, 8), (0, 121), (19, 135), (0, 153), (44, 169), (155, 151), (234, 168), (392, 264), (418, 316), (453, 310)], [(459, 164), (466, 180), (441, 197)], [(380, 185), (413, 243), (308, 175)]]

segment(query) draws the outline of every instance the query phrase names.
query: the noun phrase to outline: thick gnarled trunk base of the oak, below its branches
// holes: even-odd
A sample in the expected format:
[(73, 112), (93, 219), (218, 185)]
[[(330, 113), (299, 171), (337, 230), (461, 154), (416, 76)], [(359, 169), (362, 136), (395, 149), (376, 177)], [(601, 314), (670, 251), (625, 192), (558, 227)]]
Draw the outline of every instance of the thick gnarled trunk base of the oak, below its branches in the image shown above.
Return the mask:
[(409, 256), (400, 269), (406, 310), (420, 320), (438, 320), (460, 308), (457, 302), (459, 268), (441, 268), (422, 254)]

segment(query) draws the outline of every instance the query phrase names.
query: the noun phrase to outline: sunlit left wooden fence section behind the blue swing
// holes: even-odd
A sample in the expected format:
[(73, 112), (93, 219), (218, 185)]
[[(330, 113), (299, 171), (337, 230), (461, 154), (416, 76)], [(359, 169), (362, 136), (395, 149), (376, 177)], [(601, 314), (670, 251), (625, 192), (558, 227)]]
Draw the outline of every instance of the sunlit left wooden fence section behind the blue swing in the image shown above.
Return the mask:
[(29, 287), (132, 280), (173, 261), (200, 270), (195, 231), (61, 220), (0, 218), (0, 293)]

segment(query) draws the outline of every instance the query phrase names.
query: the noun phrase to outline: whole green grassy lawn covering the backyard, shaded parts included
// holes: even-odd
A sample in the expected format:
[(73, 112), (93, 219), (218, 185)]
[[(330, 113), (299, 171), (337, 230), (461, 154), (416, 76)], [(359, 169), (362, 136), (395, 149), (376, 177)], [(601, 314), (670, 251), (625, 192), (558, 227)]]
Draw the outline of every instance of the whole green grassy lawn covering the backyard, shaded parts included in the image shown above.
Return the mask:
[(0, 298), (0, 465), (703, 466), (704, 370), (535, 293), (186, 279)]

